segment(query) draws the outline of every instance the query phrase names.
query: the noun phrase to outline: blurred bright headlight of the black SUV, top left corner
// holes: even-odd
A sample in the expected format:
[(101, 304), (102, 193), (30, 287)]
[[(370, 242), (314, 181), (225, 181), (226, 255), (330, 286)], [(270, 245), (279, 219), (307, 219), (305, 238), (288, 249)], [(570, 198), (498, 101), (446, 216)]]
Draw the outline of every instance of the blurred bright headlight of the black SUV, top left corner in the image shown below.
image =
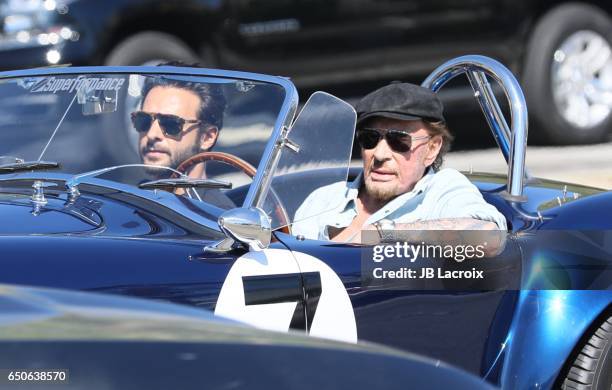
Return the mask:
[(78, 32), (54, 23), (68, 12), (66, 0), (8, 0), (0, 5), (0, 50), (57, 45), (76, 41)]

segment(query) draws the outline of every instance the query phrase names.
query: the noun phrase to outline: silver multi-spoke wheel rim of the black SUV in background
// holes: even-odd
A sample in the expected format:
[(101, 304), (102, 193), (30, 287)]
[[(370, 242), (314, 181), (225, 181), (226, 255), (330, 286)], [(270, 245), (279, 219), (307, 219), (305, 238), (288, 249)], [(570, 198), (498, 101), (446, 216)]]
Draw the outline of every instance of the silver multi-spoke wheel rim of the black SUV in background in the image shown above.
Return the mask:
[(612, 111), (612, 49), (600, 34), (583, 30), (567, 37), (552, 62), (552, 93), (570, 124), (588, 129)]

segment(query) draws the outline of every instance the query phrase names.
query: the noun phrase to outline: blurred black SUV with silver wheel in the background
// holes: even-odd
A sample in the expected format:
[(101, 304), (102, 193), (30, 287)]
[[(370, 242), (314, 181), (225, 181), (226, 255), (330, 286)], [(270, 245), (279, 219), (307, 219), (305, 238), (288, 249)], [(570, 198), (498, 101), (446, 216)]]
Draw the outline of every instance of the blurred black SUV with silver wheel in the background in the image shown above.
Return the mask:
[(182, 60), (333, 89), (420, 81), (444, 60), (483, 54), (520, 76), (532, 139), (586, 143), (605, 139), (612, 121), (611, 9), (546, 0), (0, 0), (0, 67)]

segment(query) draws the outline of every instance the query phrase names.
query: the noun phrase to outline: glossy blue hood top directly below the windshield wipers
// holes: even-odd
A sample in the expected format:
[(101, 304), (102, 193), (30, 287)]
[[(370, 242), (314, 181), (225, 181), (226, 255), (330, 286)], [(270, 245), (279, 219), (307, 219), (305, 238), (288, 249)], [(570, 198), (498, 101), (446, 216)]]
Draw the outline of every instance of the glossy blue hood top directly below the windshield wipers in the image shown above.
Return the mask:
[(51, 181), (50, 189), (44, 191), (44, 201), (37, 201), (32, 183), (3, 183), (0, 236), (77, 234), (199, 241), (224, 237), (213, 228), (223, 210), (203, 202), (181, 199), (198, 217), (199, 222), (195, 222), (161, 202), (102, 186), (83, 185), (82, 194), (70, 199), (63, 183)]

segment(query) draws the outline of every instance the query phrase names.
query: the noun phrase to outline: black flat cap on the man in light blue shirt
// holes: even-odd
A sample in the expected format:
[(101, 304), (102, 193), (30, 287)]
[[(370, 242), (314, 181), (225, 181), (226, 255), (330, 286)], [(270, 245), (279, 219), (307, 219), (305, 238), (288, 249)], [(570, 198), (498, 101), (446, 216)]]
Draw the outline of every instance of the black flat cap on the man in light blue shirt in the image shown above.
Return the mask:
[(355, 109), (357, 123), (375, 116), (445, 122), (444, 107), (438, 95), (410, 83), (393, 83), (379, 88), (361, 99)]

